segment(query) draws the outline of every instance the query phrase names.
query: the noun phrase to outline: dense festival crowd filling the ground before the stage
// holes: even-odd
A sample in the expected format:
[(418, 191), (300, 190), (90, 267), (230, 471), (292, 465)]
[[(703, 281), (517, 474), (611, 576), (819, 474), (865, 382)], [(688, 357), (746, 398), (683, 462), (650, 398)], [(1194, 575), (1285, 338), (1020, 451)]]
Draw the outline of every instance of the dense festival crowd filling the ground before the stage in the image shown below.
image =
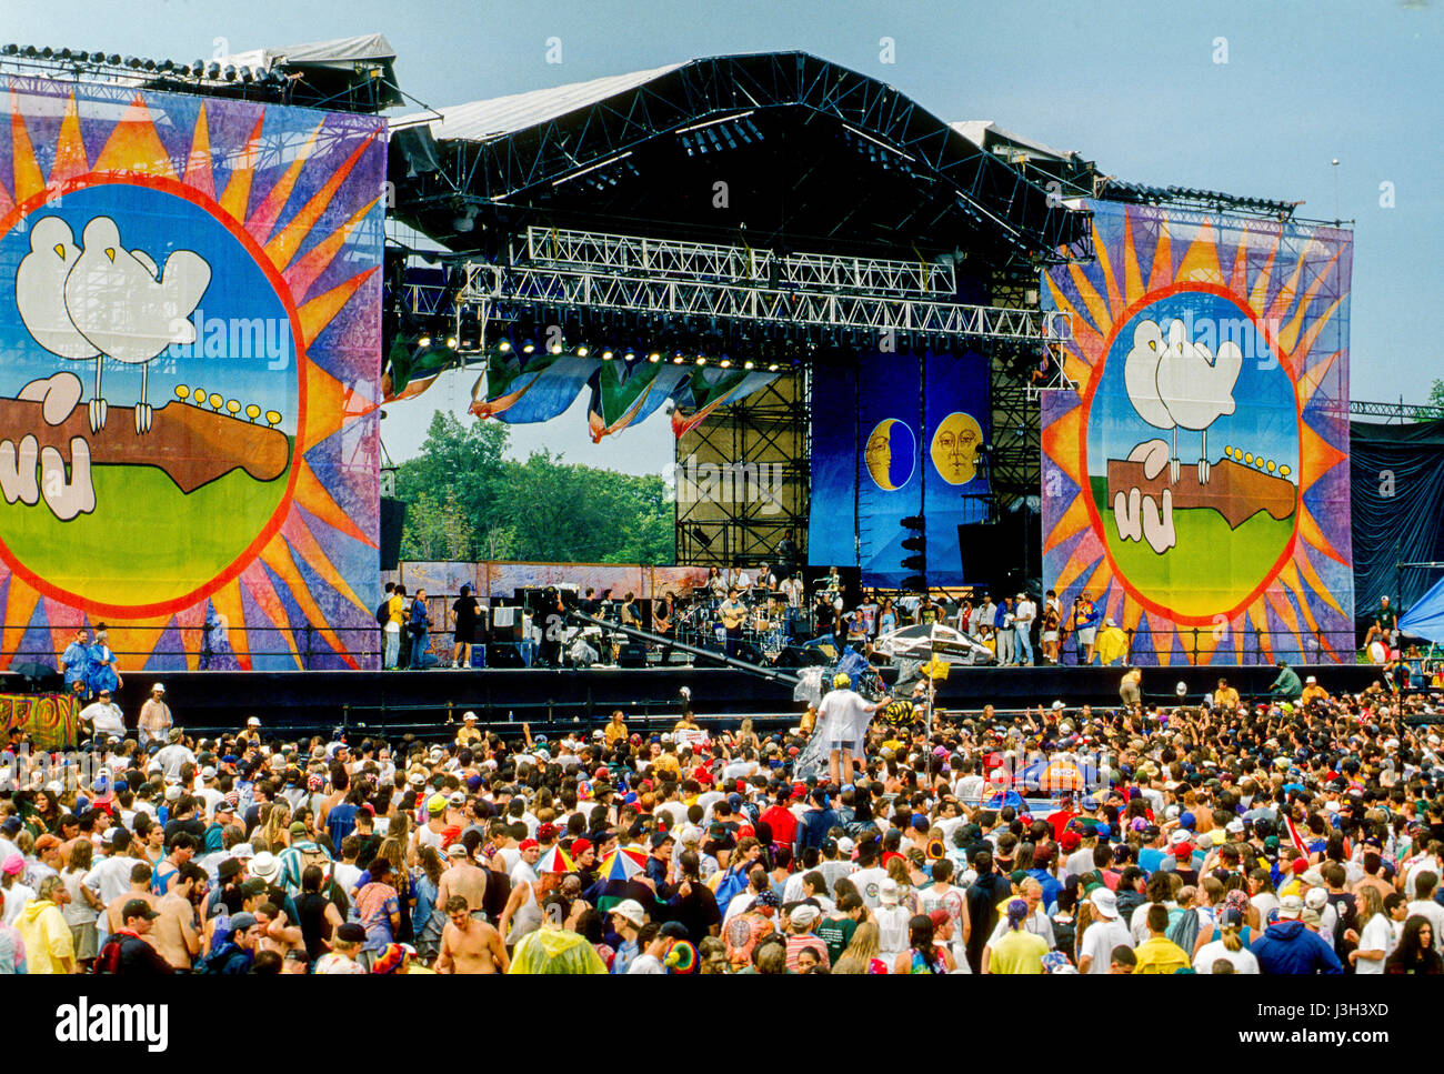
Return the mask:
[(771, 733), (195, 738), (162, 694), (71, 764), (12, 733), (0, 973), (1444, 970), (1437, 693), (928, 733), (832, 687)]

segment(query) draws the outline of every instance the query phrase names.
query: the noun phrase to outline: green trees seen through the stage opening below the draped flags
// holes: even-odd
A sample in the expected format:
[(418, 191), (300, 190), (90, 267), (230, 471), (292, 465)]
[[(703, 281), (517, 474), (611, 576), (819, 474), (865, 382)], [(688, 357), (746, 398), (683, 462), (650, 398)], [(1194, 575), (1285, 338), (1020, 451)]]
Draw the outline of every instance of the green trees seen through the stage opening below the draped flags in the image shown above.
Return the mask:
[(500, 422), (438, 411), (417, 458), (401, 463), (403, 559), (653, 563), (676, 559), (673, 508), (657, 475), (567, 463), (550, 452), (503, 458)]

